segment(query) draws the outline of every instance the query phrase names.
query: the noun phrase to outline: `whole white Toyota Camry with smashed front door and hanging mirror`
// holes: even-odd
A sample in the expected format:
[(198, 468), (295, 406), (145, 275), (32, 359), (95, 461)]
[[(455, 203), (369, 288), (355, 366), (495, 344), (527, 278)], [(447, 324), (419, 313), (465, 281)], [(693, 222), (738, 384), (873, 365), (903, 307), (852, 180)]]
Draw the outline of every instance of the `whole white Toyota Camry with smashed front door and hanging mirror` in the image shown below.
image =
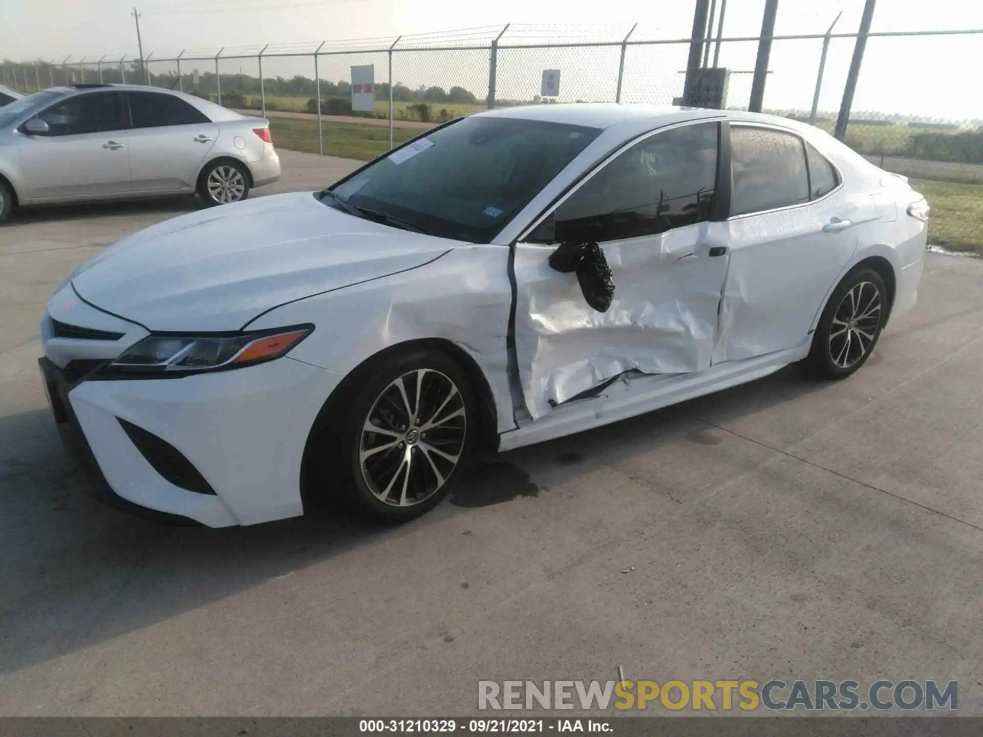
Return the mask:
[(479, 447), (793, 362), (848, 376), (914, 304), (927, 219), (783, 118), (493, 110), (106, 249), (48, 303), (40, 365), (102, 498), (212, 527), (331, 495), (404, 520)]

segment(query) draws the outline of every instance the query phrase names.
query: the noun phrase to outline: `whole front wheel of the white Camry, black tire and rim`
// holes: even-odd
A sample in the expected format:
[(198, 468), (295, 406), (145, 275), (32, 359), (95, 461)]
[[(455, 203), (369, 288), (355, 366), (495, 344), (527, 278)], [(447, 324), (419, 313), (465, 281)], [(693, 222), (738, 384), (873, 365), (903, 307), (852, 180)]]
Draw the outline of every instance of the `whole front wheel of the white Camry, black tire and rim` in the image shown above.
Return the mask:
[[(436, 506), (461, 476), (478, 429), (467, 373), (414, 349), (362, 369), (334, 422), (340, 491), (366, 516), (405, 522)], [(330, 453), (331, 448), (324, 448)]]

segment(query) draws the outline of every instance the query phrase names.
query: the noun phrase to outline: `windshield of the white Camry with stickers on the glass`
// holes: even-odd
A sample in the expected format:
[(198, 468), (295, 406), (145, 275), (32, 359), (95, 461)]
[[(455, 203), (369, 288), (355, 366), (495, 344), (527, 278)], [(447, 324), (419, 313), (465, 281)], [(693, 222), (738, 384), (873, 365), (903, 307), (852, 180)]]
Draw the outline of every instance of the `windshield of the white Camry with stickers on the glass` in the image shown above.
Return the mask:
[(600, 133), (518, 118), (464, 118), (392, 151), (322, 200), (393, 227), (489, 243)]

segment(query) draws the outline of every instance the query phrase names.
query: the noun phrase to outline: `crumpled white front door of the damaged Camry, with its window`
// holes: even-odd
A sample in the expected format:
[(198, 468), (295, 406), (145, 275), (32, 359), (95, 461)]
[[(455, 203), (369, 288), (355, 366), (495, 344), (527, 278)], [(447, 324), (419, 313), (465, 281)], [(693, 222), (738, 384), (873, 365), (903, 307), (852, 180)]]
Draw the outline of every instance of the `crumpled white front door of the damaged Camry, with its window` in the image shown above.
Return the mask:
[[(533, 419), (625, 371), (710, 367), (729, 257), (721, 136), (718, 122), (684, 124), (628, 144), (516, 244), (515, 350)], [(591, 242), (614, 283), (606, 312), (549, 265), (561, 243)]]

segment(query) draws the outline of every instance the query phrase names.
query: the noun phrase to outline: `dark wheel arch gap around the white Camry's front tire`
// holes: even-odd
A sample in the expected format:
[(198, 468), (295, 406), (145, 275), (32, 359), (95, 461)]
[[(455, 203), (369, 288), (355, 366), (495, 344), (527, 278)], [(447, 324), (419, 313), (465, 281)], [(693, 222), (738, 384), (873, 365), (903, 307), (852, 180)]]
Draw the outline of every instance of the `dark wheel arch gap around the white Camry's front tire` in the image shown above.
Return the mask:
[(338, 385), (334, 387), (321, 406), (314, 425), (311, 426), (308, 432), (308, 437), (304, 445), (304, 454), (301, 460), (301, 501), (305, 510), (311, 509), (320, 503), (320, 499), (316, 498), (316, 494), (312, 488), (318, 463), (316, 457), (317, 441), (330, 425), (331, 418), (345, 411), (347, 401), (354, 394), (352, 387), (365, 371), (375, 369), (376, 365), (385, 364), (396, 354), (413, 350), (439, 351), (455, 361), (467, 373), (479, 403), (476, 449), (479, 453), (497, 452), (499, 436), (497, 411), (492, 386), (485, 372), (471, 354), (446, 338), (418, 338), (395, 343), (391, 346), (386, 346), (350, 370)]

